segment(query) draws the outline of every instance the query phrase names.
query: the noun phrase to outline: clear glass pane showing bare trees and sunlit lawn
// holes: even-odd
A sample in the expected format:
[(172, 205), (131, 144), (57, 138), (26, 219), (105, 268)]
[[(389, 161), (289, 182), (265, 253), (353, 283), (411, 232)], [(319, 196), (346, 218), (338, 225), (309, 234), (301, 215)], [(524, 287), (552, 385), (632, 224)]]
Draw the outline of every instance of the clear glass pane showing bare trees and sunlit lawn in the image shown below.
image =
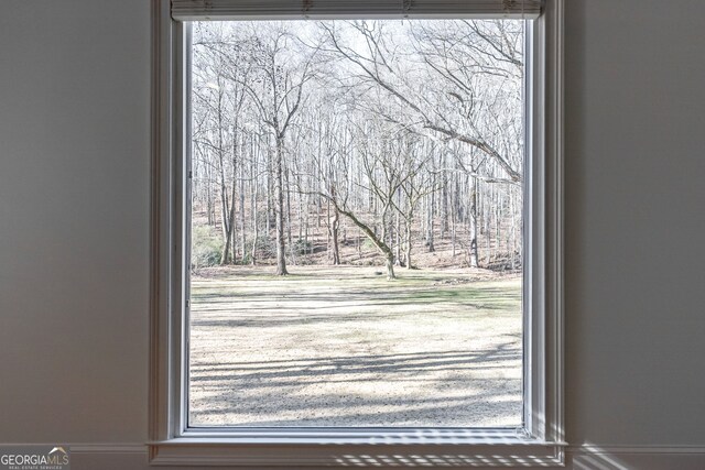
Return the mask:
[(523, 29), (193, 23), (189, 426), (521, 425)]

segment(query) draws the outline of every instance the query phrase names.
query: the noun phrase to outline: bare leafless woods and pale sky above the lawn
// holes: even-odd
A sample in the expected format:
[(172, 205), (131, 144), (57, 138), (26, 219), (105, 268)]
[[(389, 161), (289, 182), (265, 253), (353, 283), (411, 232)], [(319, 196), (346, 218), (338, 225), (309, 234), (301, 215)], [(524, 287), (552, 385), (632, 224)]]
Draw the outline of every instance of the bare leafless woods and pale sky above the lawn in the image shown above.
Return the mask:
[(522, 21), (196, 22), (192, 67), (194, 267), (521, 267)]

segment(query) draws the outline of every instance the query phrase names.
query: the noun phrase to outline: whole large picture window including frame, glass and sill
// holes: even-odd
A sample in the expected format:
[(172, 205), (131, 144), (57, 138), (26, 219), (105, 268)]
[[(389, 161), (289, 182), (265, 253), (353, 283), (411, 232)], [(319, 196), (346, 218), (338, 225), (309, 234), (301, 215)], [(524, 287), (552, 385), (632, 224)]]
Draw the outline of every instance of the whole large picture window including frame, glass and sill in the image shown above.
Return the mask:
[(560, 13), (155, 3), (154, 463), (562, 461)]

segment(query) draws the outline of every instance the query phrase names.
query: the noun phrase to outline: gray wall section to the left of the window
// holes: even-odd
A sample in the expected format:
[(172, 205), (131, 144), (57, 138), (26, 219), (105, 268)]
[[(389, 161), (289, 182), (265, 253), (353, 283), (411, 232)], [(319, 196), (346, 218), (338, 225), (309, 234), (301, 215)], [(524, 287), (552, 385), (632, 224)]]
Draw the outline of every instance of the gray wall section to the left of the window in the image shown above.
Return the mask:
[(0, 442), (147, 438), (150, 2), (0, 2)]

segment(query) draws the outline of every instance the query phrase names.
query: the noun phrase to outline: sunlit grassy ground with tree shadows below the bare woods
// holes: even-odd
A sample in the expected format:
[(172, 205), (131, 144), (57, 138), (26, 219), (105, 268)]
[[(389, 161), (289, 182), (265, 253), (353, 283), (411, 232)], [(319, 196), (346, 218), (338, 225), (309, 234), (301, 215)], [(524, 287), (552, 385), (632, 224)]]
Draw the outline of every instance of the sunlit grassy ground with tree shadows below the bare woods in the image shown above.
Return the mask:
[(516, 426), (521, 281), (485, 270), (200, 270), (192, 426)]

